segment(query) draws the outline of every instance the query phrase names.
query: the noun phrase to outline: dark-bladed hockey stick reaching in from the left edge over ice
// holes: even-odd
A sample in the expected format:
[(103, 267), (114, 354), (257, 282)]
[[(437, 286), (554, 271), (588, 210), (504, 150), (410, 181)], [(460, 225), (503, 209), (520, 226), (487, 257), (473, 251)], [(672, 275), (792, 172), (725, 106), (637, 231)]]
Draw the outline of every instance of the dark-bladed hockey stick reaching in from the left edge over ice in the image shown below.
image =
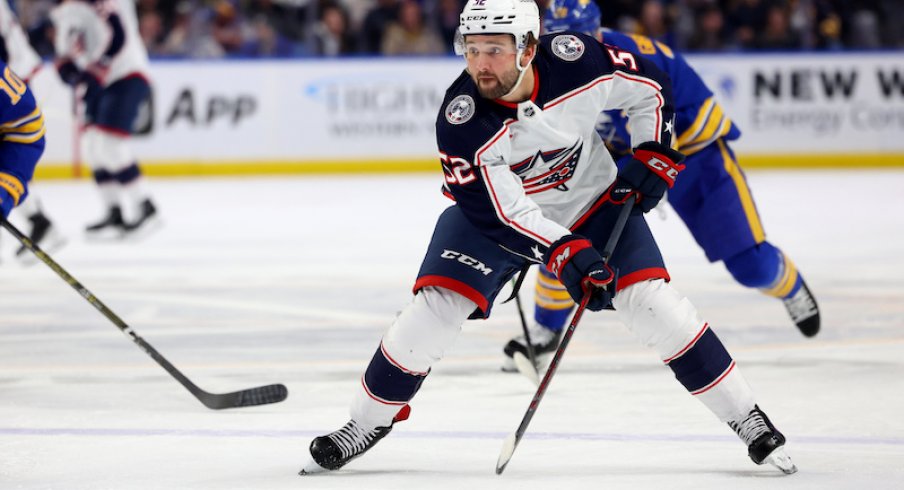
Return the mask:
[(289, 395), (289, 390), (286, 389), (285, 385), (282, 384), (274, 384), (267, 386), (258, 386), (256, 388), (249, 388), (247, 390), (234, 391), (232, 393), (208, 393), (201, 388), (198, 388), (197, 385), (191, 382), (190, 379), (185, 377), (181, 371), (176, 369), (169, 361), (166, 360), (156, 349), (154, 349), (151, 344), (145, 342), (145, 340), (138, 336), (131, 327), (126, 325), (126, 322), (122, 321), (121, 318), (116, 316), (105, 304), (103, 304), (99, 299), (97, 299), (91, 291), (85, 286), (82, 286), (80, 282), (78, 282), (74, 277), (72, 277), (65, 269), (63, 269), (59, 264), (57, 264), (49, 255), (44, 253), (37, 245), (35, 245), (31, 239), (22, 234), (15, 226), (13, 226), (9, 221), (3, 219), (0, 216), (0, 225), (6, 228), (14, 237), (16, 237), (22, 245), (31, 250), (41, 262), (47, 264), (47, 267), (53, 269), (54, 272), (57, 273), (64, 281), (66, 281), (73, 289), (78, 291), (79, 295), (85, 298), (92, 306), (97, 308), (108, 320), (113, 322), (114, 325), (119, 327), (123, 333), (125, 333), (133, 342), (138, 344), (138, 347), (141, 348), (147, 355), (151, 356), (152, 359), (157, 361), (157, 364), (163, 366), (163, 369), (166, 369), (172, 377), (176, 378), (176, 381), (182, 384), (192, 395), (195, 396), (201, 403), (204, 404), (205, 407), (220, 410), (223, 408), (236, 408), (236, 407), (249, 407), (252, 405), (266, 405), (268, 403), (277, 403), (286, 399)]

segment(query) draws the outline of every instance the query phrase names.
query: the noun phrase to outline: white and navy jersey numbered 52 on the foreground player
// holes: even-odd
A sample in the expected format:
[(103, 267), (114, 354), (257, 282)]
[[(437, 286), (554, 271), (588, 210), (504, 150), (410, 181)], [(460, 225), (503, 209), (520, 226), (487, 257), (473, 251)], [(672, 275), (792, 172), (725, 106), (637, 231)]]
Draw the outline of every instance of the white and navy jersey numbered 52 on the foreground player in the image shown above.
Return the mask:
[(482, 98), (462, 73), (446, 92), (436, 137), (447, 195), (502, 247), (539, 261), (615, 181), (595, 128), (600, 112), (627, 112), (633, 147), (669, 145), (673, 106), (665, 73), (583, 34), (542, 36), (533, 70), (533, 94), (517, 105)]

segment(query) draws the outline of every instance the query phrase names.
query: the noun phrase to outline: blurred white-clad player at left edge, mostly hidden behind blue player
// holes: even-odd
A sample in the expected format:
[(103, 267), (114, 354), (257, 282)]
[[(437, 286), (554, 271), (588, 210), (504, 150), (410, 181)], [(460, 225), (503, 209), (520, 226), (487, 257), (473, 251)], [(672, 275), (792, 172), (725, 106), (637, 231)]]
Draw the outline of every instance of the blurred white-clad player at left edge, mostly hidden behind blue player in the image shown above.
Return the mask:
[[(43, 66), (41, 57), (28, 44), (28, 37), (10, 8), (8, 0), (0, 0), (0, 61), (3, 61), (13, 73), (18, 74), (26, 85)], [(40, 125), (43, 128), (43, 119), (33, 121), (33, 125), (35, 127)], [(62, 246), (65, 240), (44, 214), (40, 201), (33, 191), (32, 189), (29, 192), (29, 199), (24, 200), (19, 209), (31, 225), (28, 237), (39, 247), (50, 252)], [(16, 257), (25, 259), (30, 256), (24, 246), (19, 246)]]

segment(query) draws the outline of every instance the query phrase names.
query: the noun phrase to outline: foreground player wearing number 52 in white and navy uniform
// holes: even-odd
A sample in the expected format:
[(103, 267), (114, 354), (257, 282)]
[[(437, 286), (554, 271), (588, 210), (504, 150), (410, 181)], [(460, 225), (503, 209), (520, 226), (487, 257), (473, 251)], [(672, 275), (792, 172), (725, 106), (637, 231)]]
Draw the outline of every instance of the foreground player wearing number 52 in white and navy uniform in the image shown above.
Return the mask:
[[(341, 468), (405, 420), (462, 323), (487, 318), (508, 280), (532, 263), (552, 270), (587, 309), (611, 303), (688, 393), (737, 432), (754, 462), (793, 473), (784, 436), (740, 368), (669, 285), (644, 219), (684, 168), (670, 147), (668, 77), (591, 36), (539, 33), (533, 0), (465, 5), (455, 47), (467, 69), (447, 90), (436, 122), (443, 190), (455, 204), (439, 217), (414, 298), (356, 388), (351, 420), (312, 441), (301, 474)], [(607, 109), (632, 121), (634, 155), (621, 170), (596, 133)], [(630, 196), (639, 205), (607, 264), (598, 250)]]

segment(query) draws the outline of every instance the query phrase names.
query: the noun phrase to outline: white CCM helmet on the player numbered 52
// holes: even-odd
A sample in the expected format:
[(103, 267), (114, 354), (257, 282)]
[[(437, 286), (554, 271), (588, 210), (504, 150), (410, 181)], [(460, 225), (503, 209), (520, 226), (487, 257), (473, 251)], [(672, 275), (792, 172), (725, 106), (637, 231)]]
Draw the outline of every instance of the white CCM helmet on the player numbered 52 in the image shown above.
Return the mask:
[(540, 11), (535, 0), (468, 0), (459, 16), (455, 53), (465, 53), (468, 34), (511, 34), (518, 52), (527, 47), (529, 34), (540, 38)]

